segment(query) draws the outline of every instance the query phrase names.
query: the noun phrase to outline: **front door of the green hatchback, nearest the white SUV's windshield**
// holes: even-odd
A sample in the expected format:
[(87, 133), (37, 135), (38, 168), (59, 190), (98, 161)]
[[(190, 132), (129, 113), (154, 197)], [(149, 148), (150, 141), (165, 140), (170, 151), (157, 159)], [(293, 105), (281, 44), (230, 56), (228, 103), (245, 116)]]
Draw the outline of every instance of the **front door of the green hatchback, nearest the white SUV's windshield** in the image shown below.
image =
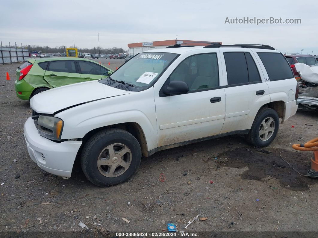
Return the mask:
[(108, 76), (108, 70), (99, 64), (85, 60), (77, 60), (77, 64), (82, 82), (102, 79)]

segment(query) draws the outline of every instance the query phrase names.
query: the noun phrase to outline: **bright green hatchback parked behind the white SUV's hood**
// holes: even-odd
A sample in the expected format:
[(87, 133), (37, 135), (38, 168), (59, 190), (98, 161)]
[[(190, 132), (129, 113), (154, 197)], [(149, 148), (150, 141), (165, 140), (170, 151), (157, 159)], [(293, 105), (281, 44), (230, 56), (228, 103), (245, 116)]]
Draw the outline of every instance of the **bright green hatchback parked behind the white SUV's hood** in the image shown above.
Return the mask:
[(16, 71), (14, 87), (17, 97), (23, 100), (51, 88), (107, 78), (114, 72), (82, 58), (30, 58)]

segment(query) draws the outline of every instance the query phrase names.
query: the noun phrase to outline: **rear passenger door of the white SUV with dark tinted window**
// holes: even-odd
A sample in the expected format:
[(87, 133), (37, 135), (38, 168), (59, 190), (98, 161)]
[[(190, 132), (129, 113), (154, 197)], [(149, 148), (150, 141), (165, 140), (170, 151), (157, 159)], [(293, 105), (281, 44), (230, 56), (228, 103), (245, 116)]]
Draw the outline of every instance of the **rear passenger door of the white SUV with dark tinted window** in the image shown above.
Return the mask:
[(259, 108), (270, 102), (265, 78), (249, 49), (220, 48), (220, 51), (223, 51), (222, 67), (226, 69), (223, 71), (226, 74), (225, 120), (221, 133), (250, 129)]

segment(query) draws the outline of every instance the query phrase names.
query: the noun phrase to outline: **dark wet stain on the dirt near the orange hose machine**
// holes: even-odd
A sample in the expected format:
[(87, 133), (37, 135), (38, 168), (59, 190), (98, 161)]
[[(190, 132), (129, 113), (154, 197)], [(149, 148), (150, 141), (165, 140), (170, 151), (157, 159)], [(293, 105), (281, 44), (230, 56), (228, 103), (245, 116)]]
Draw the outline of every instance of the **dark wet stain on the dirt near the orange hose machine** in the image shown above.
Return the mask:
[[(315, 179), (299, 176), (280, 158), (280, 151), (283, 150), (273, 148), (261, 150), (251, 147), (237, 148), (219, 154), (219, 161), (215, 161), (216, 167), (247, 167), (248, 170), (240, 175), (242, 179), (265, 181), (270, 176), (279, 180), (281, 186), (293, 191), (305, 191), (317, 183)], [(233, 157), (233, 155), (235, 156)], [(307, 156), (297, 151), (287, 151), (282, 153), (282, 156), (297, 171), (303, 174), (307, 173), (310, 164)]]

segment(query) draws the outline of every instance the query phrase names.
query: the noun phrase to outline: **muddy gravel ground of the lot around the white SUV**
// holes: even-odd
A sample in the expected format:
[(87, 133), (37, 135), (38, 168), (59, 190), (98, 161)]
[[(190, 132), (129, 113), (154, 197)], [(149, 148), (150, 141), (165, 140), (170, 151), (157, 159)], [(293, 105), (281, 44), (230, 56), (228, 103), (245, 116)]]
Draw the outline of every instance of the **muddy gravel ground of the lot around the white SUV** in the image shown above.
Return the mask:
[[(120, 60), (109, 61), (112, 69), (122, 64)], [(107, 65), (107, 59), (102, 63)], [(128, 182), (100, 188), (86, 179), (78, 161), (72, 178), (64, 180), (42, 173), (29, 158), (23, 125), (31, 109), (14, 91), (15, 70), (21, 64), (0, 65), (3, 237), (33, 231), (65, 237), (160, 232), (167, 228), (167, 221), (176, 222), (179, 231), (187, 232), (245, 231), (245, 237), (275, 237), (276, 232), (282, 237), (285, 235), (279, 232), (307, 231), (311, 233), (298, 237), (316, 236), (317, 180), (297, 174), (279, 153), (290, 150), (291, 144), (317, 137), (317, 113), (298, 111), (280, 125), (278, 136), (265, 148), (271, 153), (249, 146), (241, 136), (228, 136), (155, 153), (142, 159)], [(7, 71), (10, 81), (5, 80)], [(282, 153), (301, 173), (310, 168), (311, 155)], [(164, 182), (159, 181), (160, 173), (166, 176)], [(58, 190), (57, 195), (51, 195), (53, 189)], [(194, 221), (184, 229), (197, 215), (206, 221)], [(79, 227), (80, 221), (89, 230)]]

